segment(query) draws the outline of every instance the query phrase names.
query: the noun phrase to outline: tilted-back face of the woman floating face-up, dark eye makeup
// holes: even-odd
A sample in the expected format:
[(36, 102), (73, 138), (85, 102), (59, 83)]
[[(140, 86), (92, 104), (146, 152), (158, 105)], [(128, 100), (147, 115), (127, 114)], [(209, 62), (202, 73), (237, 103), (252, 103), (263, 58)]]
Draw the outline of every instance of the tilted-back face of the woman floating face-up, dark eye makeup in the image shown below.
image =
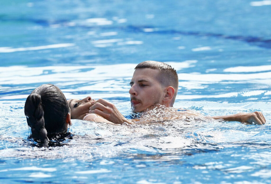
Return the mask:
[(89, 107), (91, 106), (91, 103), (90, 103), (91, 101), (93, 101), (93, 99), (91, 99), (90, 96), (87, 96), (86, 98), (83, 98), (82, 100), (79, 100), (79, 99), (68, 100), (71, 119), (83, 120), (83, 117), (89, 111)]

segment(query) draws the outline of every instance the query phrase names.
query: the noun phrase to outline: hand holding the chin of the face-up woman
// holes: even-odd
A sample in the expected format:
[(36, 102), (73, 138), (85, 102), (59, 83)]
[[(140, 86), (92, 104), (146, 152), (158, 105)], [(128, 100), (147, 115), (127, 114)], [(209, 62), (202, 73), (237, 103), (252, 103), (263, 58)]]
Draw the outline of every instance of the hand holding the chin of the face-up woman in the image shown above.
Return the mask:
[(89, 108), (89, 113), (98, 114), (115, 124), (122, 124), (124, 122), (132, 124), (129, 120), (124, 118), (115, 105), (104, 99), (100, 98), (98, 100), (91, 101), (91, 104), (92, 106)]

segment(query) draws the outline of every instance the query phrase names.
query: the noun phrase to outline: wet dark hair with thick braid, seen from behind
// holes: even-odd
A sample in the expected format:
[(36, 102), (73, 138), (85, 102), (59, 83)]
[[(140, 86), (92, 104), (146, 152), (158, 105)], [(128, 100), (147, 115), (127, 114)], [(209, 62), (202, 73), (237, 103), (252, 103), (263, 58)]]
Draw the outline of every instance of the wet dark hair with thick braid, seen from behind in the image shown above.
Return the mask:
[(25, 101), (24, 114), (31, 128), (31, 137), (38, 142), (47, 143), (47, 135), (66, 133), (68, 113), (69, 105), (64, 94), (52, 84), (34, 89)]

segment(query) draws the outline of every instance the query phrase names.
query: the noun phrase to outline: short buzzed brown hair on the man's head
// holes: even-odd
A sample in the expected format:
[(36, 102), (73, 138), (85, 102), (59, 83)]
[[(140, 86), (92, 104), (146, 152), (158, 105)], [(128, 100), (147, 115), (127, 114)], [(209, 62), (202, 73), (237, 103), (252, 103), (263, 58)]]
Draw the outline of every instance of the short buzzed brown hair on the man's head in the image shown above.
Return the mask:
[(179, 79), (177, 72), (169, 64), (158, 62), (158, 61), (144, 61), (139, 63), (135, 69), (150, 68), (160, 70), (160, 75), (158, 80), (162, 83), (163, 86), (172, 86), (175, 89), (175, 93), (172, 99), (172, 104), (174, 104), (176, 95), (178, 93)]

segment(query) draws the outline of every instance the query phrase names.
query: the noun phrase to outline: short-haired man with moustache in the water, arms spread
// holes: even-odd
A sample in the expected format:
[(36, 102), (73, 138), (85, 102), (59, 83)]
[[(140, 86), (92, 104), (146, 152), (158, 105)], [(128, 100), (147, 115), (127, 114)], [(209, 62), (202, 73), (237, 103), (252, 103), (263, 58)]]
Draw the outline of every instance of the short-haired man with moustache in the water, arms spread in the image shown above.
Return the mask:
[[(181, 117), (183, 116), (201, 116), (193, 111), (173, 108), (178, 93), (178, 83), (177, 72), (170, 65), (156, 61), (144, 61), (139, 63), (135, 67), (134, 75), (130, 82), (131, 88), (129, 93), (132, 111), (144, 113), (154, 108), (160, 108), (166, 113), (171, 112), (171, 115), (166, 116), (163, 120), (178, 120), (182, 119)], [(115, 124), (122, 124), (124, 122), (132, 123), (118, 111), (114, 104), (104, 99), (98, 99), (91, 103), (92, 106), (89, 108), (89, 113), (101, 115)], [(174, 113), (172, 113), (172, 109), (174, 109)], [(265, 124), (266, 122), (262, 113), (257, 111), (211, 118), (225, 121), (254, 122), (259, 125)]]

